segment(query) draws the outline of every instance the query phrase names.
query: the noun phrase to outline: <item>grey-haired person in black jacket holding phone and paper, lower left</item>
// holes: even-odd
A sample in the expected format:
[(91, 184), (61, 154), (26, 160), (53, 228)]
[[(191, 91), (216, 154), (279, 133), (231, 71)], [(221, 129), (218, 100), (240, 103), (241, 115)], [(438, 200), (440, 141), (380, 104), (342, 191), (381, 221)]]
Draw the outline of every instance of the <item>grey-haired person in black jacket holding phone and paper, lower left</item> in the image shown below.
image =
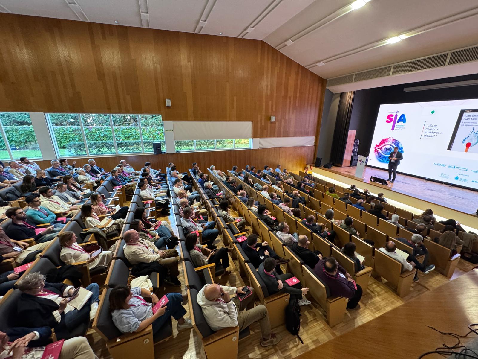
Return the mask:
[(64, 283), (45, 282), (45, 276), (38, 272), (29, 273), (20, 279), (18, 289), (22, 292), (17, 302), (15, 326), (38, 328), (49, 326), (54, 329), (57, 339), (71, 338), (71, 332), (80, 323), (96, 316), (99, 302), (98, 283), (86, 287), (92, 295), (80, 310), (68, 304), (75, 288)]

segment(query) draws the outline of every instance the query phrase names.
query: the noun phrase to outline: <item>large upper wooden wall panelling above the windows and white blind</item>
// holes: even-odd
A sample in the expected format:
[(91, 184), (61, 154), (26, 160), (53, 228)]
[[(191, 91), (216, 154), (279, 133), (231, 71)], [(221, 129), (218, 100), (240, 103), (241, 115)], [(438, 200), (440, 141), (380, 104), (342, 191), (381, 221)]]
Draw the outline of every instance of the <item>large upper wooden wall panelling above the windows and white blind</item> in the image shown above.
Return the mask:
[(157, 113), (310, 136), (326, 87), (259, 40), (0, 13), (0, 43), (0, 111)]

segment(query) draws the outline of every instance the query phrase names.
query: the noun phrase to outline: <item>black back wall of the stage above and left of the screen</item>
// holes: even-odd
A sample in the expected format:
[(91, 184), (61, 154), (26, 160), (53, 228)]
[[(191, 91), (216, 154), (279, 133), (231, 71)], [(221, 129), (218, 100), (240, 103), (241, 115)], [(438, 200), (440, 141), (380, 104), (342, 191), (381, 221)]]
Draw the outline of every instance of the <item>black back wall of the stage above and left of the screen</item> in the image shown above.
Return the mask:
[(478, 85), (413, 92), (404, 92), (403, 88), (476, 79), (478, 74), (355, 91), (348, 129), (357, 131), (359, 155), (370, 149), (380, 104), (478, 99)]

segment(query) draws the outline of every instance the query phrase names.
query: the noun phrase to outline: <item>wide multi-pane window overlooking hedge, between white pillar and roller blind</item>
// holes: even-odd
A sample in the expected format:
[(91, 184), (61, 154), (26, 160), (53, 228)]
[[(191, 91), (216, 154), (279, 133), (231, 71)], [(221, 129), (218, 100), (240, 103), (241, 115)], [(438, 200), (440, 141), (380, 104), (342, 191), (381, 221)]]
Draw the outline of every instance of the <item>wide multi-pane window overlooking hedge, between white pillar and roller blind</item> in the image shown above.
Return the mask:
[(165, 150), (161, 115), (48, 113), (46, 119), (59, 157), (149, 153), (153, 142)]

